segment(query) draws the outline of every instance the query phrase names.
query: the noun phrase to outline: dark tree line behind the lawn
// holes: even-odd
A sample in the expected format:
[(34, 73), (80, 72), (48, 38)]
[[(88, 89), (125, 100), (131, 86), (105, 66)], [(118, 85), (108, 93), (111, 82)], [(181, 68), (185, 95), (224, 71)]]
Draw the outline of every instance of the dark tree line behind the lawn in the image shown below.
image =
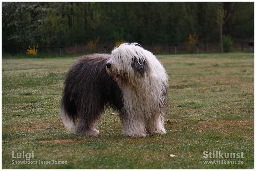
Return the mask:
[[(177, 44), (196, 32), (219, 43), (218, 9), (227, 11), (223, 34), (234, 42), (254, 39), (254, 2), (2, 2), (2, 53), (99, 44)], [(60, 31), (61, 29), (61, 31)], [(24, 42), (26, 37), (26, 42)], [(61, 39), (60, 39), (61, 38)]]

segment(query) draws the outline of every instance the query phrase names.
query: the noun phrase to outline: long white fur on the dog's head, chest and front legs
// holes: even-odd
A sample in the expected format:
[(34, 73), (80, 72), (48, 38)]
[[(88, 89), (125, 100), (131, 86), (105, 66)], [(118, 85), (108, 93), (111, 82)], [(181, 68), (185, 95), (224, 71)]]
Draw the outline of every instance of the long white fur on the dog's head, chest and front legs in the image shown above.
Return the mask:
[[(132, 68), (133, 58), (147, 61), (147, 72), (141, 76)], [(136, 43), (124, 43), (116, 47), (109, 61), (112, 73), (128, 73), (128, 83), (122, 86), (121, 78), (116, 81), (124, 93), (124, 134), (144, 137), (147, 134), (166, 133), (164, 129), (164, 91), (168, 87), (168, 75), (156, 56)], [(110, 71), (108, 71), (110, 72)]]

